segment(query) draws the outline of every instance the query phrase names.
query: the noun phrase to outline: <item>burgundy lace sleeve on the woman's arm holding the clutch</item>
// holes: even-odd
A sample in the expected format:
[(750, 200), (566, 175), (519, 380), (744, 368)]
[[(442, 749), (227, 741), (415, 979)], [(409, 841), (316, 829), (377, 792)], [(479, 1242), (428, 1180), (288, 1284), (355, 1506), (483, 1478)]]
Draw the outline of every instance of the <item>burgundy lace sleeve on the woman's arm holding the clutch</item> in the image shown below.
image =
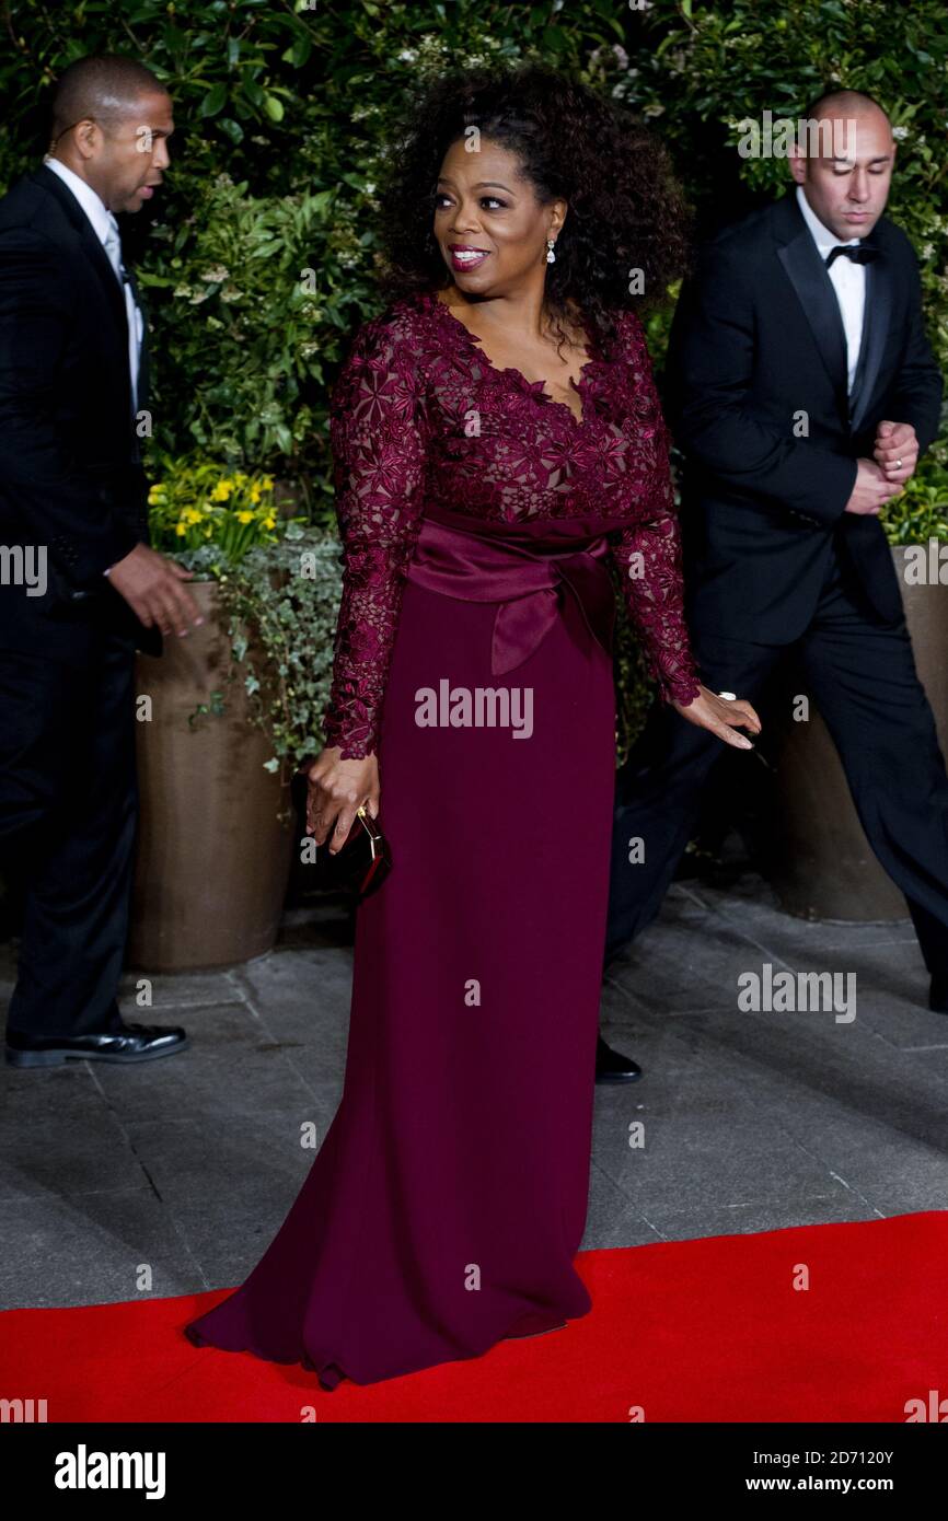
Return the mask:
[(405, 345), (379, 321), (353, 341), (330, 399), (342, 601), (324, 739), (344, 759), (373, 754), (405, 570), (425, 497), (425, 395)]

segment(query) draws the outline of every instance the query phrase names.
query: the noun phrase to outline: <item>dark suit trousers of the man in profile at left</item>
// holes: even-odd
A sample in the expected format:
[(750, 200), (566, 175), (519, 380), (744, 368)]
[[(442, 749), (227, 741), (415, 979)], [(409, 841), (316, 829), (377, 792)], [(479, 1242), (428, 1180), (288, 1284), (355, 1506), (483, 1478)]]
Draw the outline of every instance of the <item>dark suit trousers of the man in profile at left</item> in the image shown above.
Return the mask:
[(76, 625), (68, 654), (0, 637), (0, 864), (23, 931), (8, 1030), (120, 1028), (137, 826), (131, 639)]

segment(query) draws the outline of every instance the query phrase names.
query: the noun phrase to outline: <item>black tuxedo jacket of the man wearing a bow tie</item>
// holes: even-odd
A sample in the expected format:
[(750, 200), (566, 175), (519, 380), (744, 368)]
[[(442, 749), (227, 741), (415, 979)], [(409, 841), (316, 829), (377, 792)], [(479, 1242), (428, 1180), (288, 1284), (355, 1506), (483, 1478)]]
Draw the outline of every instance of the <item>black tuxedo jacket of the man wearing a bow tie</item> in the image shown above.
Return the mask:
[[(695, 631), (790, 643), (810, 624), (834, 546), (880, 618), (902, 601), (878, 519), (845, 513), (884, 418), (925, 450), (942, 376), (925, 338), (918, 260), (880, 218), (863, 243), (863, 344), (852, 395), (829, 274), (796, 193), (721, 231), (676, 310), (666, 409), (686, 468), (682, 526)], [(800, 432), (806, 414), (808, 437)]]

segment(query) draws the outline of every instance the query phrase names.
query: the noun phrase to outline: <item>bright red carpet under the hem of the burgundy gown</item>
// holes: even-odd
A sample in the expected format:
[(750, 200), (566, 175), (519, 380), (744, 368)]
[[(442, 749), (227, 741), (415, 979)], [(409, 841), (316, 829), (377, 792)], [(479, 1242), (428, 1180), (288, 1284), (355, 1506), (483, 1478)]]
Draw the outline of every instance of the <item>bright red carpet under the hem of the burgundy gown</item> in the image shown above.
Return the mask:
[[(803, 1264), (810, 1288), (794, 1288)], [(948, 1395), (948, 1211), (578, 1259), (593, 1308), (485, 1357), (327, 1393), (300, 1366), (193, 1348), (222, 1291), (0, 1316), (0, 1396), (58, 1421), (904, 1422)]]

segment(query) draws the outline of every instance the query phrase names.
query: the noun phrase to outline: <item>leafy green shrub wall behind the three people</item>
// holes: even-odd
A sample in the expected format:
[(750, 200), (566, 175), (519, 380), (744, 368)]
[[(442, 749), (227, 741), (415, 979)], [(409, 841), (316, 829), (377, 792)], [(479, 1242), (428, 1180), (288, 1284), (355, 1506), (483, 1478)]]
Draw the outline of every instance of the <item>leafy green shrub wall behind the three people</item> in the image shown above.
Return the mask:
[[(943, 0), (8, 0), (3, 12), (0, 189), (40, 161), (43, 102), (73, 58), (138, 56), (172, 91), (166, 186), (123, 219), (152, 327), (155, 468), (195, 456), (266, 472), (313, 523), (332, 522), (327, 388), (377, 310), (373, 189), (391, 106), (449, 62), (536, 56), (615, 94), (665, 137), (705, 230), (785, 184), (782, 160), (738, 154), (744, 117), (796, 117), (834, 82), (869, 90), (898, 129), (890, 213), (922, 260), (948, 370)], [(659, 370), (666, 324), (650, 327)], [(892, 538), (948, 537), (946, 503), (942, 437), (890, 511)]]

